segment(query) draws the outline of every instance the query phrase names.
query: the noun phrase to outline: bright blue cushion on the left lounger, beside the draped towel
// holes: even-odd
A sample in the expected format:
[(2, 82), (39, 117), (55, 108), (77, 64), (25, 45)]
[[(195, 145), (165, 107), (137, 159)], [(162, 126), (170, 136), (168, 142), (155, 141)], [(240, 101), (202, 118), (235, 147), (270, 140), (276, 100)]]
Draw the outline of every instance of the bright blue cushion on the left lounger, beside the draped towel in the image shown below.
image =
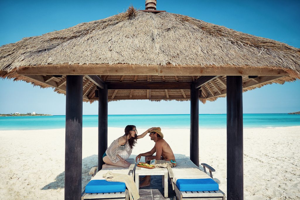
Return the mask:
[(125, 189), (126, 185), (122, 182), (91, 180), (85, 186), (85, 193), (122, 193)]

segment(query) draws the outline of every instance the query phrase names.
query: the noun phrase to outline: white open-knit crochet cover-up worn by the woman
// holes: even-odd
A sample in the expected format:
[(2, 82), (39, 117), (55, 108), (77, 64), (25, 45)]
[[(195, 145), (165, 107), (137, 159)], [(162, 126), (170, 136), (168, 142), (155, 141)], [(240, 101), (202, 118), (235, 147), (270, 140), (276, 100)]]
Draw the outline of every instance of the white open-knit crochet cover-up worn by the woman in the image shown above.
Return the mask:
[(124, 160), (128, 159), (131, 155), (132, 149), (129, 146), (129, 142), (126, 141), (124, 146), (119, 145), (118, 139), (114, 140), (112, 144), (107, 148), (105, 151), (107, 157), (112, 161), (113, 163), (118, 162), (120, 159), (117, 157), (119, 155)]

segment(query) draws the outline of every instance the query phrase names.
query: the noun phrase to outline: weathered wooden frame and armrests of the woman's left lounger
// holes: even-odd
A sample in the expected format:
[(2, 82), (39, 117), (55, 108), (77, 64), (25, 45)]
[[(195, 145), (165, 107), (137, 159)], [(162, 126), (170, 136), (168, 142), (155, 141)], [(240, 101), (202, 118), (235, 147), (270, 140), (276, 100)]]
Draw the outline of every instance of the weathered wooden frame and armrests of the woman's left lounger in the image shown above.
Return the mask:
[[(135, 164), (131, 164), (129, 166), (129, 175), (131, 175), (131, 176), (133, 176), (134, 166), (135, 166)], [(98, 168), (98, 166), (93, 167), (90, 170), (90, 172), (88, 172), (88, 174), (91, 175), (91, 178), (93, 178), (96, 175), (97, 168)], [(129, 200), (129, 193), (128, 193), (127, 189), (125, 190), (125, 192), (122, 192), (122, 193), (93, 193), (93, 194), (91, 194), (91, 193), (84, 193), (81, 196), (81, 200), (84, 200), (84, 199)]]

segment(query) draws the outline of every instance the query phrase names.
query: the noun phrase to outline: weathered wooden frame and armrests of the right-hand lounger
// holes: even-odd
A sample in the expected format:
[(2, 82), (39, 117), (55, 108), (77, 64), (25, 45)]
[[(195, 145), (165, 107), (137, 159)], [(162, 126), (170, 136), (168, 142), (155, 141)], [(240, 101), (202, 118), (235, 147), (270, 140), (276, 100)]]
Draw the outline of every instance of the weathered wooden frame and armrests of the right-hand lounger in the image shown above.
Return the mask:
[[(214, 168), (211, 166), (201, 163), (203, 166), (204, 172), (206, 173), (205, 167), (209, 170), (210, 177), (212, 178), (212, 173), (215, 172)], [(174, 176), (173, 176), (174, 177)], [(188, 199), (193, 199), (193, 200), (225, 200), (225, 194), (221, 191), (203, 191), (203, 192), (182, 192), (179, 191), (178, 187), (176, 184), (174, 184), (173, 177), (170, 177), (170, 181), (172, 183), (172, 187), (175, 189), (176, 196), (174, 197), (174, 200), (188, 200)], [(173, 189), (173, 190), (174, 190)], [(177, 197), (177, 198), (176, 198)]]

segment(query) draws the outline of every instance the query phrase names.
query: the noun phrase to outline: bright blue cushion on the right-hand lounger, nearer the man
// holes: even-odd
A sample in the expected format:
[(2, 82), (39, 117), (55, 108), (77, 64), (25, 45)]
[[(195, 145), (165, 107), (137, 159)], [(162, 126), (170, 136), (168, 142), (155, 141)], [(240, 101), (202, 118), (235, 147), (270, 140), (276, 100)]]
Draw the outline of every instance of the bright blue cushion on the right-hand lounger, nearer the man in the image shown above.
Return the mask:
[(219, 184), (211, 178), (178, 179), (176, 186), (182, 192), (218, 191)]

